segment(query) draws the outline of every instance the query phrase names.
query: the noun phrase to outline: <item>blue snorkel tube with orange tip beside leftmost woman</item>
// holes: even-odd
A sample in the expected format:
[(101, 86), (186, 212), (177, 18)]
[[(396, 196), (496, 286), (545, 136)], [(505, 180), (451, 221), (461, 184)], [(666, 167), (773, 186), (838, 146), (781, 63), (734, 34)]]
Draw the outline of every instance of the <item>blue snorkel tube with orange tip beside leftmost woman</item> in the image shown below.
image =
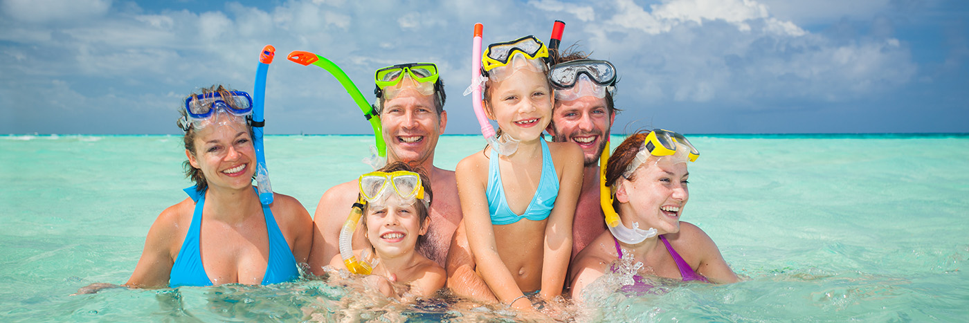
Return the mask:
[(256, 184), (259, 188), (259, 200), (263, 205), (272, 204), (272, 185), (269, 184), (266, 152), (263, 150), (263, 126), (266, 126), (263, 110), (266, 101), (266, 73), (269, 72), (269, 64), (275, 55), (276, 48), (271, 44), (263, 47), (263, 52), (259, 55), (259, 67), (256, 68), (256, 85), (252, 89), (252, 145), (256, 148)]

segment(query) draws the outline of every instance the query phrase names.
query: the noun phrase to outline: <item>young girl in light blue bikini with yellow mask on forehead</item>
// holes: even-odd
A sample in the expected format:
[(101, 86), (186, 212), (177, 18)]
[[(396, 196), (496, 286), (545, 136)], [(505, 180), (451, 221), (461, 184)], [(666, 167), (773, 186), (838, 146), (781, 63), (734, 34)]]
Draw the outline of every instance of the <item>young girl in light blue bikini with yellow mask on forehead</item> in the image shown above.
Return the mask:
[(545, 57), (545, 44), (532, 36), (487, 47), (482, 59), (485, 114), (498, 122), (499, 141), (516, 143), (516, 149), (501, 147), (499, 154), (499, 147), (488, 146), (455, 169), (464, 213), (456, 248), (470, 245), (473, 257), (463, 260), (468, 263), (453, 262), (462, 251), (452, 245), (449, 271), (455, 265), (469, 272), (473, 268), (477, 275), (457, 278), (452, 285), (482, 285), (483, 279), (484, 291), (455, 290), (519, 310), (532, 309), (526, 294), (550, 300), (562, 292), (582, 182), (578, 146), (542, 138), (553, 103)]

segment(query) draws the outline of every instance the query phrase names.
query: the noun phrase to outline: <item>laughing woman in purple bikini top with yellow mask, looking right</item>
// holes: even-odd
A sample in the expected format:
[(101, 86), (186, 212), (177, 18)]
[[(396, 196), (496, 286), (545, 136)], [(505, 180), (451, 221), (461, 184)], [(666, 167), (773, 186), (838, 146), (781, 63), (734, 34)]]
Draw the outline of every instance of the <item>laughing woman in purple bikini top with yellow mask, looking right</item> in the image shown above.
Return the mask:
[[(713, 240), (696, 225), (679, 220), (690, 198), (686, 163), (700, 155), (686, 137), (663, 130), (637, 132), (616, 147), (612, 158), (608, 154), (608, 150), (603, 153), (609, 163), (603, 165), (602, 190), (611, 187), (615, 201), (611, 206), (604, 203), (605, 211), (608, 214), (615, 207), (621, 220), (618, 225), (634, 227), (633, 223), (639, 222), (640, 227), (655, 231), (633, 239), (639, 241), (635, 243), (620, 241), (627, 239), (616, 239), (607, 231), (579, 252), (571, 273), (573, 299), (582, 302), (582, 289), (623, 257), (644, 264), (651, 276), (737, 281)], [(639, 275), (633, 279), (635, 284), (623, 290), (647, 292), (652, 287)]]

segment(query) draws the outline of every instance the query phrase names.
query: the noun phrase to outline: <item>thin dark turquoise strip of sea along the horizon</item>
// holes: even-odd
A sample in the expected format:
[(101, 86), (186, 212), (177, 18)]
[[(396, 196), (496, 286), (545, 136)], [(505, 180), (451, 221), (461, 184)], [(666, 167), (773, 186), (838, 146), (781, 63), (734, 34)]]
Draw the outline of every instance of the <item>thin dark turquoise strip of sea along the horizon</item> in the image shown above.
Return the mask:
[[(612, 133), (612, 135), (623, 136), (629, 133)], [(697, 137), (717, 137), (717, 138), (946, 138), (946, 137), (969, 137), (969, 132), (816, 132), (816, 133), (683, 133), (684, 135)], [(0, 134), (0, 137), (59, 137), (59, 136), (179, 136), (180, 133), (7, 133)], [(359, 133), (278, 133), (266, 134), (266, 136), (373, 136), (373, 134)], [(481, 133), (446, 133), (442, 136), (481, 136)]]

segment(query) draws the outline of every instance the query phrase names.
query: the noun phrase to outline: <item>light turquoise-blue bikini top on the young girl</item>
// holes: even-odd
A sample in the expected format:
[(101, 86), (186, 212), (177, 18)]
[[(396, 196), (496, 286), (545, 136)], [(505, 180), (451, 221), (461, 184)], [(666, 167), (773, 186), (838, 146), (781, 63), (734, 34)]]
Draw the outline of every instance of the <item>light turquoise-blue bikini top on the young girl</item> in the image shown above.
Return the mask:
[(532, 196), (532, 201), (528, 203), (528, 208), (522, 215), (516, 215), (508, 206), (508, 199), (505, 197), (505, 188), (501, 184), (501, 170), (498, 169), (498, 151), (491, 150), (491, 161), (488, 162), (488, 179), (485, 194), (487, 196), (488, 213), (491, 215), (491, 224), (504, 225), (512, 224), (518, 220), (546, 220), (551, 213), (552, 206), (555, 205), (555, 197), (558, 196), (558, 175), (555, 173), (555, 163), (551, 161), (551, 153), (548, 152), (548, 144), (542, 141), (542, 178), (539, 180), (539, 187)]

